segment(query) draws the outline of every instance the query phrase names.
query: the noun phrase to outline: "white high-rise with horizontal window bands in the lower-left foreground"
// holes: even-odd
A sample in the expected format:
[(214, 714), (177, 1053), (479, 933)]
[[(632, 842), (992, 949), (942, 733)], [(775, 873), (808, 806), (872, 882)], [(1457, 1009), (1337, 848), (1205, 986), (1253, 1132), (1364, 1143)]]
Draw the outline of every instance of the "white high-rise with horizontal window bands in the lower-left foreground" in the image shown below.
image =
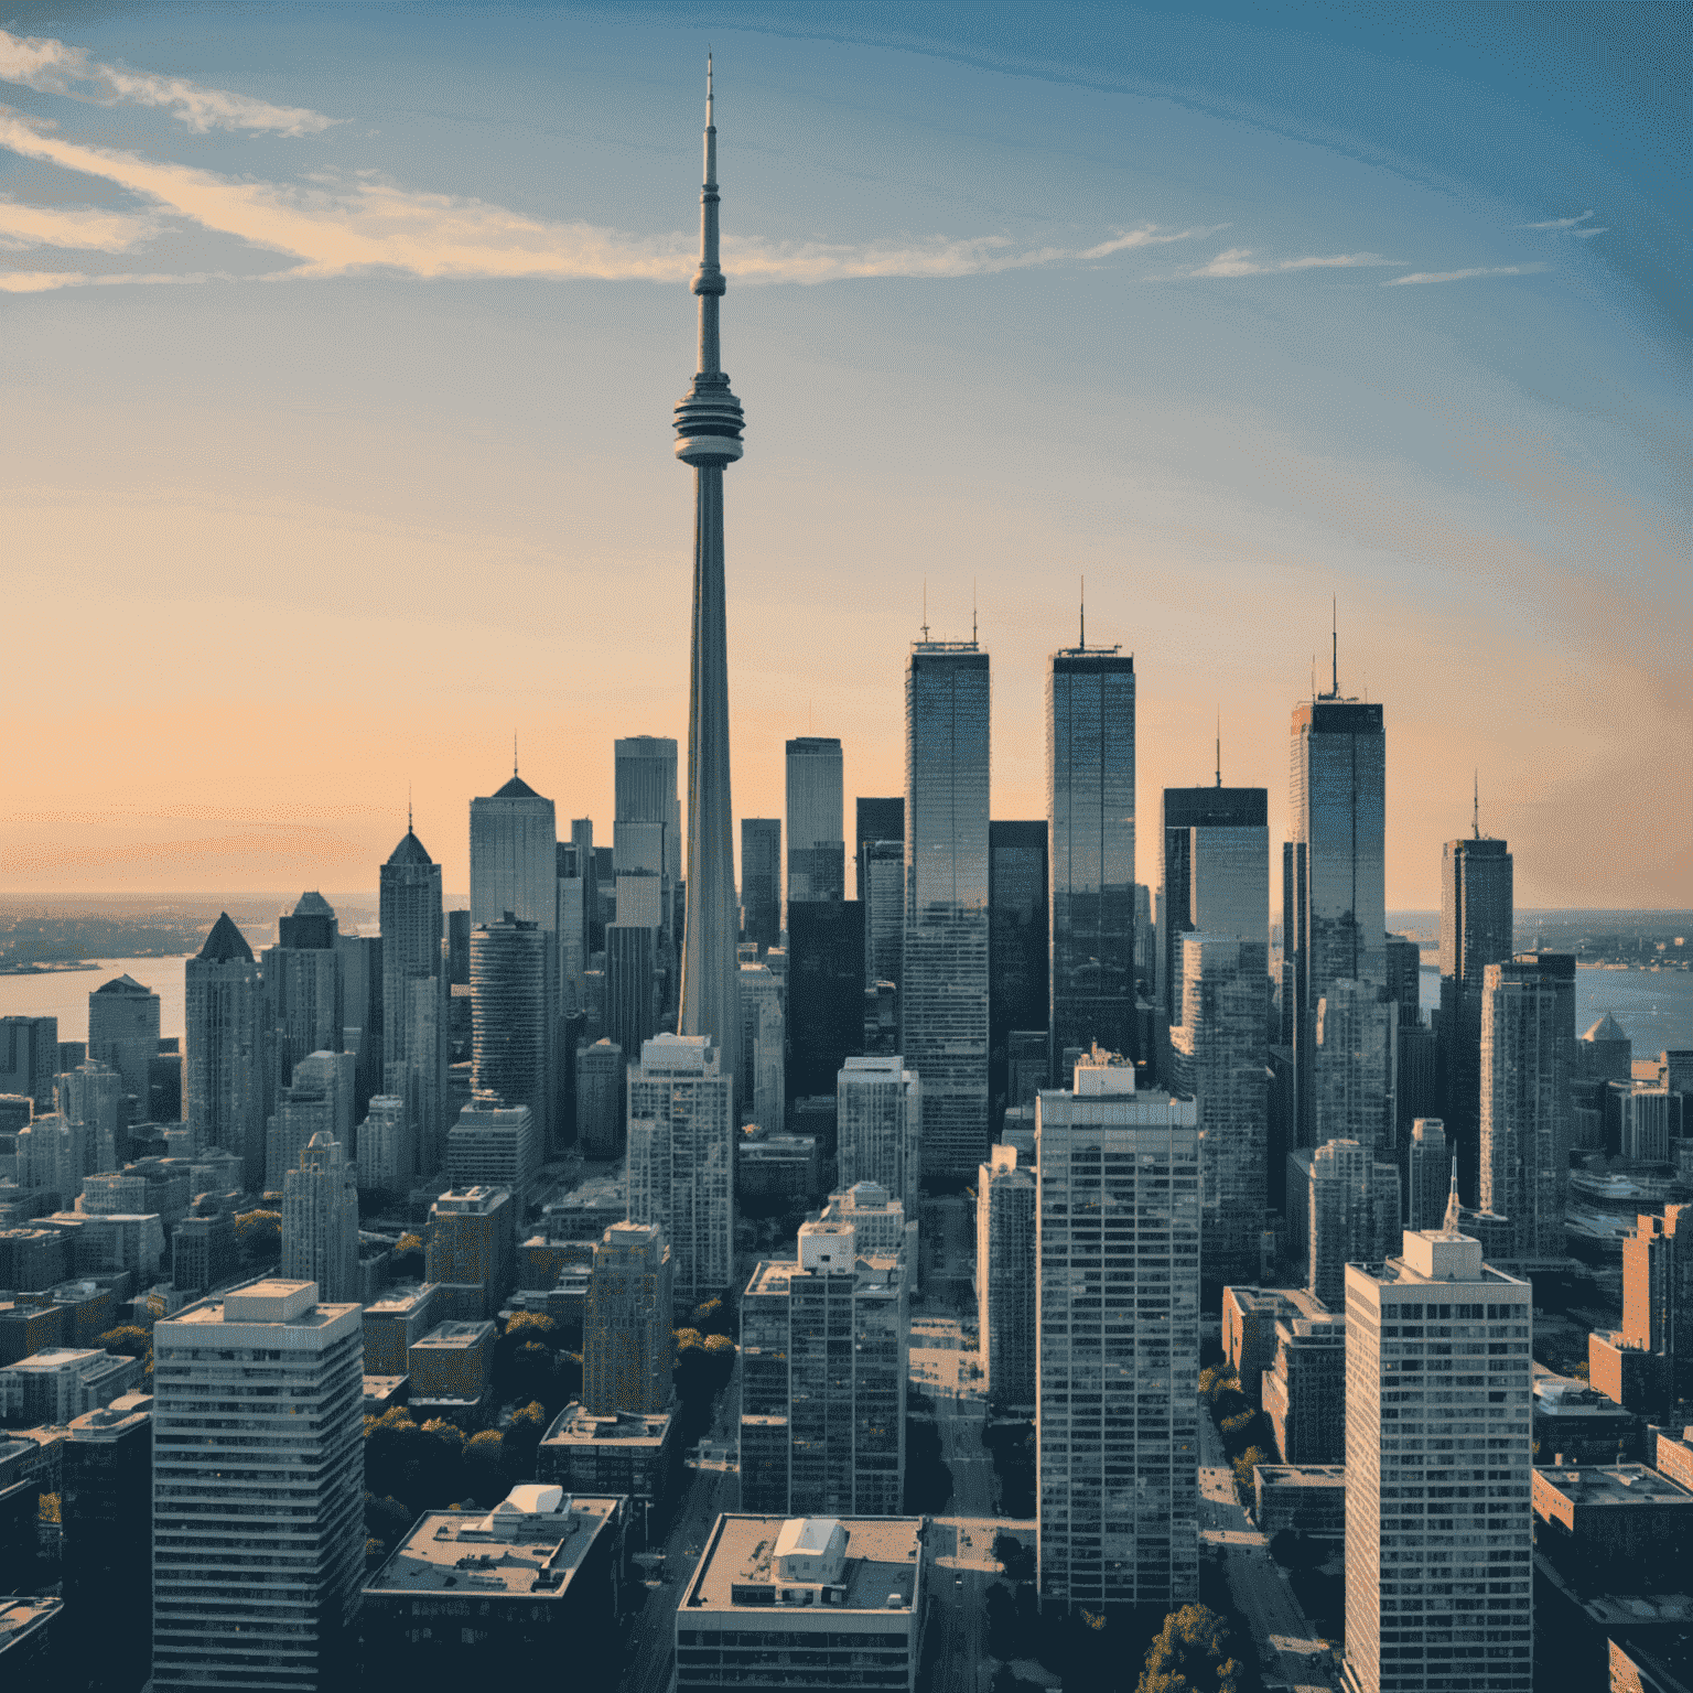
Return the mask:
[(359, 1307), (256, 1282), (152, 1331), (152, 1686), (339, 1686), (364, 1571)]

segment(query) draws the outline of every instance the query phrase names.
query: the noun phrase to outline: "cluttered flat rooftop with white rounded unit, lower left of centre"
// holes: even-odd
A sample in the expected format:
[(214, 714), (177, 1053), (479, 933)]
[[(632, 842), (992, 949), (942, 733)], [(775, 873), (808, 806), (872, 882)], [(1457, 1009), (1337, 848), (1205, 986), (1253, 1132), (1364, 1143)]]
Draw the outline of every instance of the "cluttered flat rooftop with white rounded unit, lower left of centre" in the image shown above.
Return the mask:
[(621, 1500), (515, 1486), (491, 1512), (432, 1510), (364, 1585), (366, 1595), (464, 1588), (477, 1598), (559, 1602)]

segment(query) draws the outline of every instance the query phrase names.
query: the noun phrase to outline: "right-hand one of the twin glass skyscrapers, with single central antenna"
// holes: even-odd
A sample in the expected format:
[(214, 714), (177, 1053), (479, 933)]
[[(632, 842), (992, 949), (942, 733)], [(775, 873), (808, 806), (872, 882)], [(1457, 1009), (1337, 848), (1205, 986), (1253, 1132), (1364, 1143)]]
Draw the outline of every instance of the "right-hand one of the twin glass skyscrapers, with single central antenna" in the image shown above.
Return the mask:
[(1134, 655), (1070, 647), (1046, 672), (1050, 1029), (1063, 1055), (1134, 1051)]

